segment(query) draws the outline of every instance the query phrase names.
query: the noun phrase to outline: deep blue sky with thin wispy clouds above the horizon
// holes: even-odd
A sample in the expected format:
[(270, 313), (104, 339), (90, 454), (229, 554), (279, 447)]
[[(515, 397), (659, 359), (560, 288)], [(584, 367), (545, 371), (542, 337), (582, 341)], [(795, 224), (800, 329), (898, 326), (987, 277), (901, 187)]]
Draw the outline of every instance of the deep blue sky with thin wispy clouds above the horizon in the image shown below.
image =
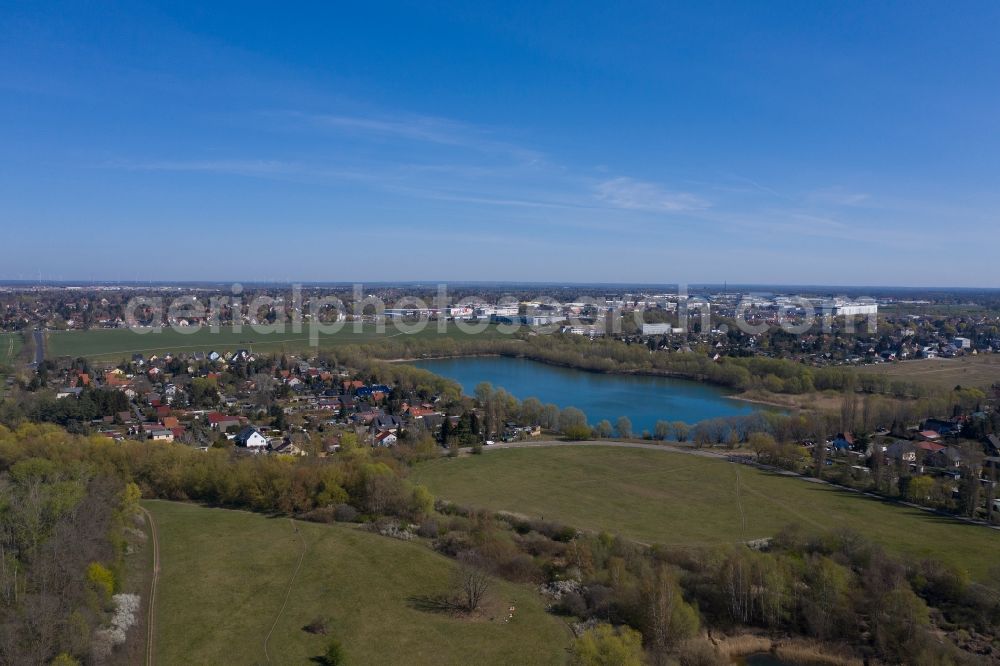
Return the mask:
[(995, 2), (204, 4), (0, 4), (0, 278), (1000, 287)]

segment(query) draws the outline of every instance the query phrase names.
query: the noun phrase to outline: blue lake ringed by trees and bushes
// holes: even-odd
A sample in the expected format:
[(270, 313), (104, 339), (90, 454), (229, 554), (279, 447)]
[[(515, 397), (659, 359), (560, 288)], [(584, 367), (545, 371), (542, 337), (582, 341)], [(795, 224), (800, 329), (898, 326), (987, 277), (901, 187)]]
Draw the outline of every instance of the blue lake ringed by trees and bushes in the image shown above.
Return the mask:
[(619, 416), (632, 421), (636, 434), (653, 432), (657, 421), (695, 423), (718, 416), (739, 416), (761, 409), (732, 400), (732, 391), (686, 379), (612, 375), (561, 368), (502, 356), (428, 359), (412, 365), (453, 379), (473, 395), (476, 384), (490, 382), (523, 400), (535, 397), (559, 407), (577, 407), (595, 424), (614, 425)]

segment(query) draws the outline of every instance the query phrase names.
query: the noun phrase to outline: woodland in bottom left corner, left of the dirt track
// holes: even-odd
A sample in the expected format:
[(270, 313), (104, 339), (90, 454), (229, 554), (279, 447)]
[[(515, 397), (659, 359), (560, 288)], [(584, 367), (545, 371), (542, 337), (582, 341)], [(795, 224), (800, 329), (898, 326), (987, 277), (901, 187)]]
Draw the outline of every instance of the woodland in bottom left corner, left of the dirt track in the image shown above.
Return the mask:
[(138, 492), (82, 461), (46, 458), (39, 439), (69, 441), (0, 428), (0, 663), (99, 663)]

